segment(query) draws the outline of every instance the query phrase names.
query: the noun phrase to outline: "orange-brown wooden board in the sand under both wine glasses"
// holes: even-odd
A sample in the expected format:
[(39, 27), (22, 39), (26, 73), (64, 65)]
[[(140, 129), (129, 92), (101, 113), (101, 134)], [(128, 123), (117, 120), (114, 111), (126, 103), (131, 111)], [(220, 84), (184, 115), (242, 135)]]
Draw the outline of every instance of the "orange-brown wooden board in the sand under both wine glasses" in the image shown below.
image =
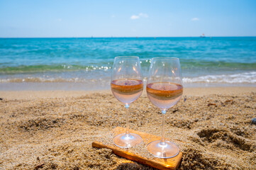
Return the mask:
[[(121, 134), (126, 132), (125, 128), (121, 127), (116, 127), (113, 129), (113, 132), (115, 135)], [(155, 141), (155, 140), (160, 140), (161, 137), (156, 136), (156, 135), (150, 135), (145, 132), (139, 132), (136, 130), (130, 130), (130, 132), (135, 133), (140, 135), (140, 137), (143, 138), (143, 142), (145, 142), (146, 145), (148, 143)], [(130, 159), (132, 161), (138, 162), (140, 164), (145, 164), (148, 166), (152, 166), (157, 169), (177, 169), (179, 167), (179, 164), (182, 162), (182, 152), (179, 152), (179, 154), (176, 157), (172, 157), (169, 159), (160, 159), (160, 158), (153, 158), (153, 159), (148, 159), (146, 157), (142, 157), (137, 154), (133, 154), (129, 152), (129, 149), (123, 149), (120, 147), (116, 147), (115, 145), (104, 145), (102, 142), (92, 142), (92, 147), (98, 147), (98, 148), (108, 148), (113, 151), (114, 154), (124, 157), (126, 159)]]

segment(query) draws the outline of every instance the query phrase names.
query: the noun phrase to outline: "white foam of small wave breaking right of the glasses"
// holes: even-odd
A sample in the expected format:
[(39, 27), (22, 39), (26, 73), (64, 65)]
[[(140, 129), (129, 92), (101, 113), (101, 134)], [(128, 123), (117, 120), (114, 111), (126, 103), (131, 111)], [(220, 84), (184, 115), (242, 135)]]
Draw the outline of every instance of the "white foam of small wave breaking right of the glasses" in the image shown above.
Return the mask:
[(184, 77), (184, 83), (225, 83), (225, 84), (255, 84), (256, 72), (240, 74), (206, 75), (201, 77)]

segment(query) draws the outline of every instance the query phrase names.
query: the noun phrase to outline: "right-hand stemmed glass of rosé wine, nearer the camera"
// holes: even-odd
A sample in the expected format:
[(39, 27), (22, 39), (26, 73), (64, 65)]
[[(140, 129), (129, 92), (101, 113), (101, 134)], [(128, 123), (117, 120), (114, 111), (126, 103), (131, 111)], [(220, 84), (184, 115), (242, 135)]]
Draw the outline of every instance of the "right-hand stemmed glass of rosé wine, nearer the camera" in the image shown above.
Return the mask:
[(178, 58), (152, 58), (147, 82), (147, 94), (151, 103), (162, 111), (161, 140), (150, 142), (148, 151), (155, 157), (171, 158), (179, 154), (179, 147), (165, 140), (165, 113), (182, 98), (182, 73)]

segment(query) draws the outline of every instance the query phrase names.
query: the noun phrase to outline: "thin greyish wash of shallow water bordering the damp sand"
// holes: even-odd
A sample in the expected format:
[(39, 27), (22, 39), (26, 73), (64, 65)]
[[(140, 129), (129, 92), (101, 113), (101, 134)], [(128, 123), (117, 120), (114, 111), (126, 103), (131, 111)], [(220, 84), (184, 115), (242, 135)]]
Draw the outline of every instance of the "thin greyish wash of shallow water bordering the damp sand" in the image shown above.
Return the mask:
[[(146, 81), (144, 80), (144, 89)], [(256, 84), (183, 83), (184, 89), (192, 88), (244, 88), (255, 89)], [(0, 91), (107, 91), (110, 81), (100, 82), (18, 82), (0, 83)]]

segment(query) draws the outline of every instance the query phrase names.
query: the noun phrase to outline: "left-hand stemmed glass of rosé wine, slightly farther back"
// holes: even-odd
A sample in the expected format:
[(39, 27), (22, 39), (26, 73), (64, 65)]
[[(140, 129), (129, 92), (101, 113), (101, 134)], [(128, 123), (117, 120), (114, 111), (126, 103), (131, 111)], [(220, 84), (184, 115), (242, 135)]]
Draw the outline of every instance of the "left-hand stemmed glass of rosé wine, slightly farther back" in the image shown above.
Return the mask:
[(140, 144), (140, 135), (129, 132), (129, 106), (143, 93), (140, 60), (135, 56), (115, 57), (111, 77), (111, 91), (126, 106), (126, 133), (113, 138), (118, 147), (128, 148)]

